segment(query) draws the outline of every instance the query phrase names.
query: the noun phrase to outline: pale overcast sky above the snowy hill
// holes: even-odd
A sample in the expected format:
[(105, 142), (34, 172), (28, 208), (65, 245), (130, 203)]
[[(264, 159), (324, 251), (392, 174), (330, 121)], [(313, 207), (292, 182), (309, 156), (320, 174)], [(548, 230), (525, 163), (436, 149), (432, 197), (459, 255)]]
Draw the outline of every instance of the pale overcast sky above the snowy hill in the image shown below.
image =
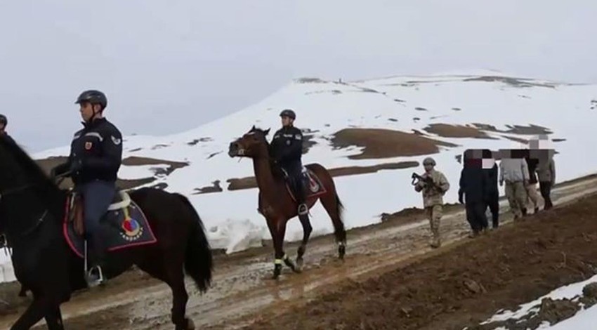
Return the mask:
[(0, 113), (67, 145), (105, 91), (124, 134), (194, 128), (298, 77), (493, 69), (597, 83), (597, 1), (0, 1)]

